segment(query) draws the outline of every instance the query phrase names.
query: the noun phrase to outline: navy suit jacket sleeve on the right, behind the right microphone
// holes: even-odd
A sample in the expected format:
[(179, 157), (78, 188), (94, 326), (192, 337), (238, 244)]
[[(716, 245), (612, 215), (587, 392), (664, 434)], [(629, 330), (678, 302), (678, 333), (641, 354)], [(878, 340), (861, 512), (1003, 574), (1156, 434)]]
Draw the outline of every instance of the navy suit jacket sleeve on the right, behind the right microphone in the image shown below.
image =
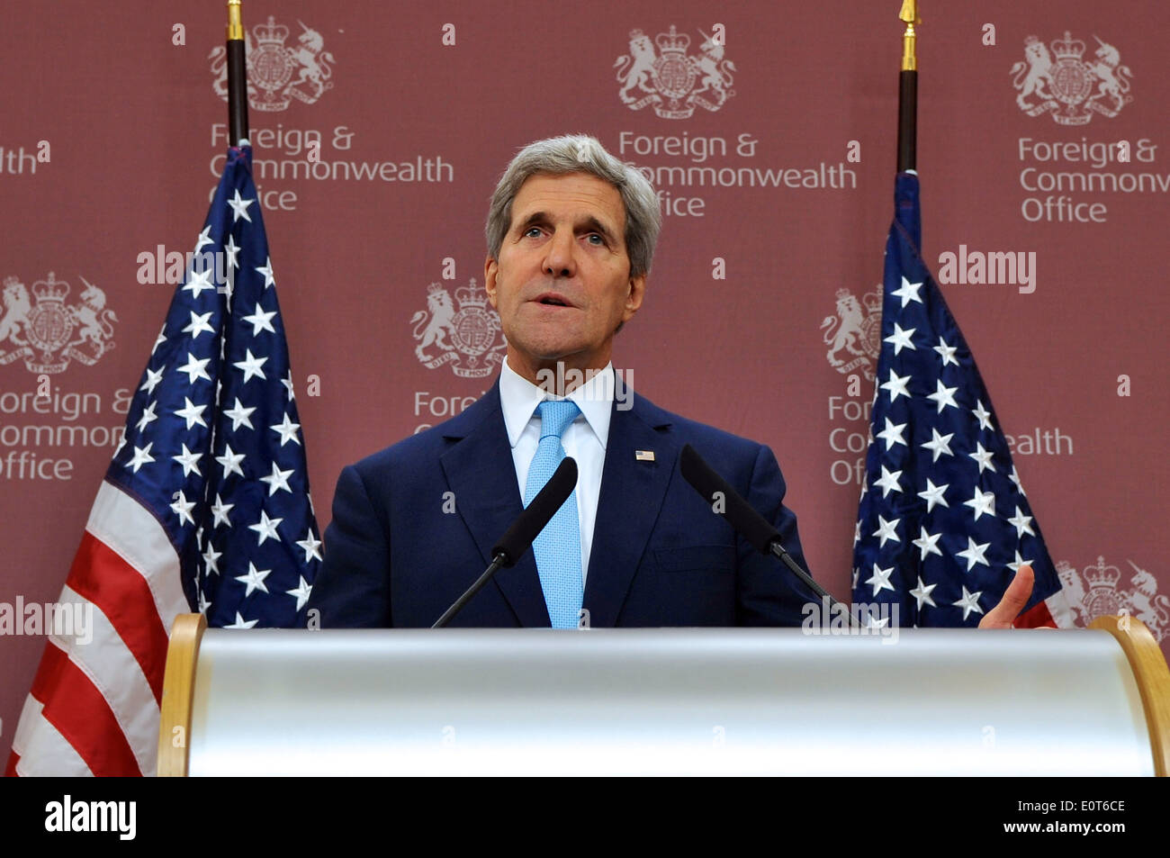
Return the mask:
[[(751, 471), (748, 502), (779, 531), (784, 548), (800, 568), (808, 571), (797, 516), (784, 506), (785, 485), (772, 451), (760, 446)], [(739, 543), (737, 576), (738, 625), (799, 626), (806, 603), (820, 602), (792, 571), (775, 557), (759, 554), (743, 538)]]

